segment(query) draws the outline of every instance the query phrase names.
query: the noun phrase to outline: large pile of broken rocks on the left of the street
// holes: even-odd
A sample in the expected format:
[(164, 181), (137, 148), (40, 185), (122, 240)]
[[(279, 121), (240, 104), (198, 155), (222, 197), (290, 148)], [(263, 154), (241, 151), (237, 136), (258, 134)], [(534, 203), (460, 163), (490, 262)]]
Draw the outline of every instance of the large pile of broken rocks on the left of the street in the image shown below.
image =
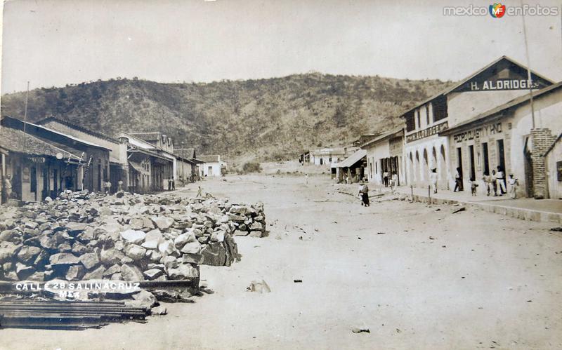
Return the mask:
[(265, 227), (262, 204), (67, 191), (3, 208), (0, 279), (198, 281), (198, 264), (228, 266), (238, 258), (233, 234), (261, 236)]

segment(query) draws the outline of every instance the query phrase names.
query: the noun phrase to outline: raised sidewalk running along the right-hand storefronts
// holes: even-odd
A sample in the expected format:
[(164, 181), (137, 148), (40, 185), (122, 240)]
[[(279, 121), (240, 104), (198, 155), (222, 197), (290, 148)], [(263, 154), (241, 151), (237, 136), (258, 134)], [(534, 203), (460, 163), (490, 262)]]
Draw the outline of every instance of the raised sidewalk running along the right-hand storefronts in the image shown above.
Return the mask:
[[(374, 191), (391, 192), (390, 187), (375, 187)], [(429, 193), (428, 189), (403, 186), (396, 191), (400, 194), (411, 196), (413, 201), (433, 204), (462, 203), (467, 206), (481, 208), (490, 213), (497, 213), (516, 217), (521, 220), (537, 222), (556, 222), (562, 224), (562, 201), (559, 199), (511, 199), (509, 195), (486, 196), (485, 194), (471, 195), (471, 191), (453, 192), (438, 190), (437, 194)]]

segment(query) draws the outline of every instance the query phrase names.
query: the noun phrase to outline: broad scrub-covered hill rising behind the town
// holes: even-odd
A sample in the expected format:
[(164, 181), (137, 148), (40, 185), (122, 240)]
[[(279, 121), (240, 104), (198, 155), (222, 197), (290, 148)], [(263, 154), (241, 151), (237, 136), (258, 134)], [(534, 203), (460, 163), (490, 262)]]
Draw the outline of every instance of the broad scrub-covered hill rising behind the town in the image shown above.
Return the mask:
[[(213, 83), (111, 79), (30, 91), (29, 121), (58, 116), (108, 135), (161, 130), (227, 159), (287, 159), (398, 125), (396, 117), (447, 86), (438, 80), (296, 74)], [(25, 93), (2, 96), (2, 115), (22, 118)]]

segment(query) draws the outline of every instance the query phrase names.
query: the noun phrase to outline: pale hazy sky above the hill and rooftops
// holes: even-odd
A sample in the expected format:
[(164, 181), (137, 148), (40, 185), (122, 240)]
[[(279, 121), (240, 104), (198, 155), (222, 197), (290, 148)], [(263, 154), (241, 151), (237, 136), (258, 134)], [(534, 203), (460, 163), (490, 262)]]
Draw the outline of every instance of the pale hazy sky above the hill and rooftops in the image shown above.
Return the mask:
[[(25, 90), (27, 81), (33, 89), (117, 76), (209, 82), (316, 71), (459, 80), (502, 55), (526, 64), (521, 16), (443, 15), (443, 6), (492, 2), (13, 0), (4, 5), (1, 93)], [(558, 12), (525, 17), (531, 68), (554, 81), (562, 80)]]

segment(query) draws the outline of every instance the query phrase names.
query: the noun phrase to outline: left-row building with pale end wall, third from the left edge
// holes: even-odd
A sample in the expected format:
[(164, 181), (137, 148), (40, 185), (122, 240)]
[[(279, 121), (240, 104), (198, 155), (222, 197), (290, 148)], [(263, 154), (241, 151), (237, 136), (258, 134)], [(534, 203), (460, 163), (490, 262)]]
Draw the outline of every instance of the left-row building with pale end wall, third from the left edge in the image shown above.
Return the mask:
[(81, 140), (100, 144), (101, 146), (110, 149), (111, 190), (117, 191), (119, 181), (121, 181), (124, 185), (124, 189), (127, 188), (127, 184), (129, 184), (129, 162), (127, 161), (126, 143), (119, 142), (119, 140), (104, 135), (103, 133), (89, 130), (53, 116), (42, 119), (41, 121), (38, 121), (37, 124), (60, 131), (61, 133), (65, 133), (67, 135), (79, 137)]

